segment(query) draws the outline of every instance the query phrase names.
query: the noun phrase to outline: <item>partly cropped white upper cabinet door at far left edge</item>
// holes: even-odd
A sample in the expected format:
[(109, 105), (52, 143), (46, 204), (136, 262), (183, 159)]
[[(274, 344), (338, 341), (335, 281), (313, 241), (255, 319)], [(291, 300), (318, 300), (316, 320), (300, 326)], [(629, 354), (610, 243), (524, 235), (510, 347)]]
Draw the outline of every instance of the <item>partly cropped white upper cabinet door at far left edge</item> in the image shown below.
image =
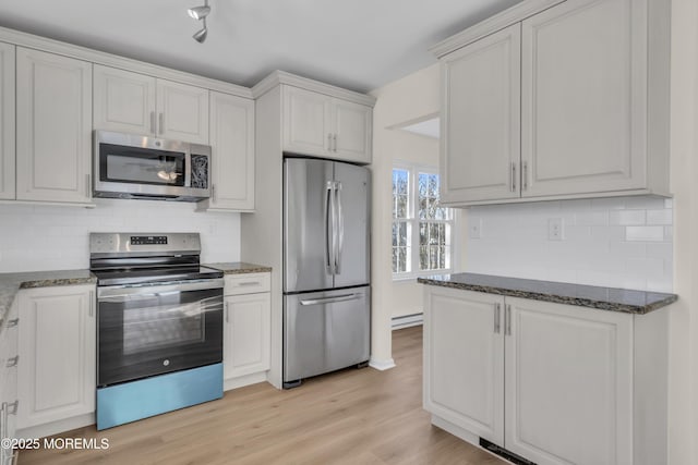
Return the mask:
[(0, 42), (0, 198), (14, 195), (14, 46)]

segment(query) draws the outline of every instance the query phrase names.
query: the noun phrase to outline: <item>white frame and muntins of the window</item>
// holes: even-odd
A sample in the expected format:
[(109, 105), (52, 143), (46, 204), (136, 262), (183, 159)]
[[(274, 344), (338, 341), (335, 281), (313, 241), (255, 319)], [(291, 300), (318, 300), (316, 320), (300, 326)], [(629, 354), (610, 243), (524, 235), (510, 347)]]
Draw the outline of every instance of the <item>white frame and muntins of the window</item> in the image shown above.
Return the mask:
[[(410, 224), (410, 266), (411, 270), (406, 272), (394, 272), (393, 281), (406, 281), (406, 280), (416, 280), (420, 277), (428, 277), (433, 274), (448, 274), (456, 269), (456, 257), (458, 256), (458, 212), (457, 209), (452, 208), (452, 219), (450, 220), (428, 220), (429, 222), (435, 223), (447, 223), (450, 224), (450, 268), (438, 269), (438, 270), (414, 270), (414, 268), (419, 268), (419, 193), (417, 189), (418, 185), (418, 176), (419, 173), (428, 173), (428, 174), (440, 174), (438, 168), (421, 164), (421, 163), (410, 163), (406, 161), (395, 161), (393, 167), (390, 168), (390, 180), (393, 179), (393, 170), (405, 170), (409, 173), (409, 188), (408, 188), (408, 201), (407, 201), (407, 219), (399, 219), (399, 221), (405, 221)], [(390, 181), (392, 185), (392, 181)], [(390, 189), (392, 192), (392, 189)], [(390, 200), (393, 200), (393, 195), (390, 195)], [(449, 208), (449, 207), (446, 207)], [(393, 218), (392, 213), (393, 209), (390, 208), (390, 257), (393, 254), (393, 223), (396, 221)], [(392, 259), (392, 258), (390, 258)]]

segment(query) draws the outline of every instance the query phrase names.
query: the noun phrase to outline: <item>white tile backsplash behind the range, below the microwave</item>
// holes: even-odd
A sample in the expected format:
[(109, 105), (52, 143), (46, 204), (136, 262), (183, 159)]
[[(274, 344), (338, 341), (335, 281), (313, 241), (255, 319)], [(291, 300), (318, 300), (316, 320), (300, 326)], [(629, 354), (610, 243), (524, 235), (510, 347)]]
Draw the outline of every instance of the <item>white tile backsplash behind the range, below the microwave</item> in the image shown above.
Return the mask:
[(95, 199), (97, 208), (0, 205), (0, 272), (89, 268), (89, 232), (198, 232), (202, 260), (240, 259), (240, 213), (195, 204)]

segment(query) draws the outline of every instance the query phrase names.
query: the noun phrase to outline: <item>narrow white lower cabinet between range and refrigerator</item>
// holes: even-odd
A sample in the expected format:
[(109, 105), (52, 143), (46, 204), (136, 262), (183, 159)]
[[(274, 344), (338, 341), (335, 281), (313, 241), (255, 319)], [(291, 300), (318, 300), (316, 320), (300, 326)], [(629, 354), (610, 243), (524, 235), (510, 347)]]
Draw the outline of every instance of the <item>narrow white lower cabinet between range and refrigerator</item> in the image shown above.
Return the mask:
[(226, 277), (224, 292), (225, 388), (264, 381), (272, 344), (269, 273)]

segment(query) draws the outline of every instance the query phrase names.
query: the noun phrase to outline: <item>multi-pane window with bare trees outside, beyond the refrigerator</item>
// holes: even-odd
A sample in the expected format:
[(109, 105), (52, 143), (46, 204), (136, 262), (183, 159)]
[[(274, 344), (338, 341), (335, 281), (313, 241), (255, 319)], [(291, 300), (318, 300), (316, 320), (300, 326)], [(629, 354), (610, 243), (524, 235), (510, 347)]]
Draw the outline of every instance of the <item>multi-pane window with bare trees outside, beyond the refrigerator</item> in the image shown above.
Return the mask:
[(434, 169), (393, 169), (393, 277), (449, 271), (454, 213), (438, 206)]

